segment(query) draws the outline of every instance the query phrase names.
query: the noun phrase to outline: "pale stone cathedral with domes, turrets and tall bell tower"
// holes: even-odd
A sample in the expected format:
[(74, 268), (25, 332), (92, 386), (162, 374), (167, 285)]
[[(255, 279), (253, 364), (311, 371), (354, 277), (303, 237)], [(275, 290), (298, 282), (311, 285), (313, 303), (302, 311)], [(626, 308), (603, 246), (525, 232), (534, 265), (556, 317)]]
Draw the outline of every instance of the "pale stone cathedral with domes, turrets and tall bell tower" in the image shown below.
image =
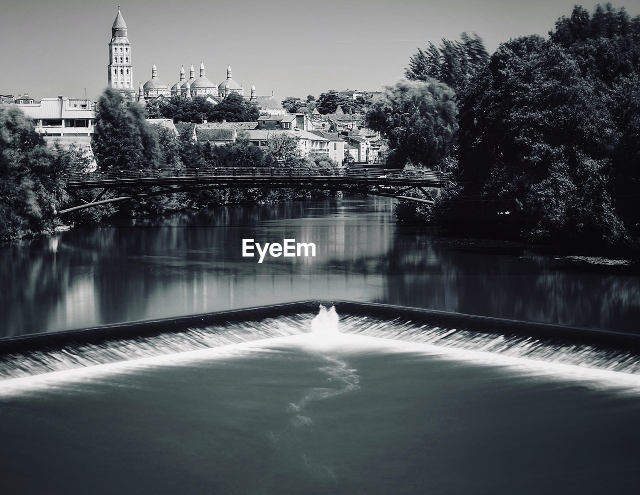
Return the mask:
[[(120, 12), (111, 26), (111, 42), (109, 43), (109, 86), (114, 88), (125, 98), (127, 102), (137, 101), (146, 105), (158, 98), (180, 97), (191, 99), (194, 97), (206, 98), (211, 104), (218, 104), (232, 93), (237, 93), (247, 98), (244, 88), (236, 83), (231, 75), (231, 65), (227, 67), (227, 78), (220, 84), (213, 83), (206, 76), (204, 63), (200, 63), (200, 75), (196, 77), (193, 65), (189, 68), (189, 79), (186, 79), (184, 66), (180, 68), (180, 80), (167, 86), (158, 78), (158, 70), (154, 63), (151, 68), (151, 79), (146, 83), (140, 83), (138, 91), (133, 86), (133, 64), (131, 59), (131, 42), (127, 36), (127, 24)], [(284, 114), (284, 109), (279, 102), (270, 97), (258, 96), (255, 85), (252, 84), (251, 94), (248, 99), (260, 107), (262, 113)]]

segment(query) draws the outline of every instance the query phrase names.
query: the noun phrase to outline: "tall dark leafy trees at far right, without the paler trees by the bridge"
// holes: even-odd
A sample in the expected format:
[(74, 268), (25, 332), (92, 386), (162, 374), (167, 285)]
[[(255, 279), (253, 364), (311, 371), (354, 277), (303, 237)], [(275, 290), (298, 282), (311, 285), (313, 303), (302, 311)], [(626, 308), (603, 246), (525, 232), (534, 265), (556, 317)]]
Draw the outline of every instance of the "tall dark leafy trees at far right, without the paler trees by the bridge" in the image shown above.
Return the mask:
[[(451, 212), (532, 239), (627, 242), (637, 207), (640, 20), (575, 7), (547, 40), (502, 43), (461, 95), (458, 198)], [(470, 207), (473, 206), (473, 208)]]

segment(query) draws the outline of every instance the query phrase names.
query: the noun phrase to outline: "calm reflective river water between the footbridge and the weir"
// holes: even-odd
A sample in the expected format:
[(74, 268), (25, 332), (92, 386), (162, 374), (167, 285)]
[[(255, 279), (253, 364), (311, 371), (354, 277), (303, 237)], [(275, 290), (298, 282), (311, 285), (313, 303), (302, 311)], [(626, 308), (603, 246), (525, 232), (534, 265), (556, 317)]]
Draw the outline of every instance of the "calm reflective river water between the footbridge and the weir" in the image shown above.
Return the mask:
[[(241, 256), (315, 242), (316, 258)], [(353, 299), (637, 333), (632, 267), (397, 226), (385, 198), (237, 205), (0, 247), (0, 335)], [(606, 261), (604, 263), (607, 263)]]

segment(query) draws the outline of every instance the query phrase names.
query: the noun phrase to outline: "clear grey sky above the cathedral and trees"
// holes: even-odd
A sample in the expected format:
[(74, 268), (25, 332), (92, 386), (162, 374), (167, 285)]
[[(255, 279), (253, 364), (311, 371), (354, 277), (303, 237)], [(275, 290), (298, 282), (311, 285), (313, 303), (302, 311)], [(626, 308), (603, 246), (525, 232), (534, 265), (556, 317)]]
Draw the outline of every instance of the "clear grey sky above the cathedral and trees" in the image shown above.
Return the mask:
[[(417, 47), (462, 31), (489, 52), (509, 38), (547, 35), (576, 0), (119, 0), (135, 87), (172, 86), (180, 65), (204, 61), (218, 84), (233, 77), (259, 95), (306, 97), (394, 84)], [(107, 84), (118, 0), (19, 0), (0, 9), (0, 93), (95, 100)], [(640, 0), (612, 2), (640, 15)], [(594, 3), (582, 3), (590, 10)]]

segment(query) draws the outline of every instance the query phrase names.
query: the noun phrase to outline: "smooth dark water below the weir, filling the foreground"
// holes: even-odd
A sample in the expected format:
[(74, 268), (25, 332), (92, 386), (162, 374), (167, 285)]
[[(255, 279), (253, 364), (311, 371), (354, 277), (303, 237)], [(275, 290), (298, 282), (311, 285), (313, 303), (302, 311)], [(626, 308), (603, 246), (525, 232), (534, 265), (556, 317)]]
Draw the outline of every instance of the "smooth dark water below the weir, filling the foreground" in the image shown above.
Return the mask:
[(298, 335), (7, 391), (12, 494), (632, 494), (640, 381)]

